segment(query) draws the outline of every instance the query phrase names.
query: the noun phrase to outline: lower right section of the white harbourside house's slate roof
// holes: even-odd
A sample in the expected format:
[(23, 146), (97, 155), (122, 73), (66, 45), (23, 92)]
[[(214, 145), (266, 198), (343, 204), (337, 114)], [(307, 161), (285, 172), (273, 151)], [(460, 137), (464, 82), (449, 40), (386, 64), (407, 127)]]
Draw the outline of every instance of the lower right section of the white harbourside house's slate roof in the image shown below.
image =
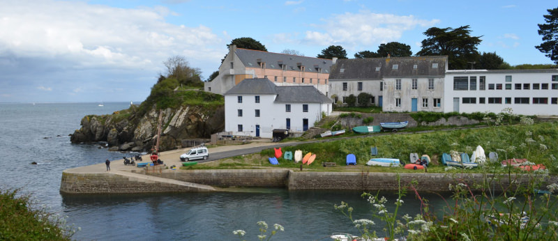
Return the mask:
[(276, 86), (276, 103), (333, 103), (314, 86)]

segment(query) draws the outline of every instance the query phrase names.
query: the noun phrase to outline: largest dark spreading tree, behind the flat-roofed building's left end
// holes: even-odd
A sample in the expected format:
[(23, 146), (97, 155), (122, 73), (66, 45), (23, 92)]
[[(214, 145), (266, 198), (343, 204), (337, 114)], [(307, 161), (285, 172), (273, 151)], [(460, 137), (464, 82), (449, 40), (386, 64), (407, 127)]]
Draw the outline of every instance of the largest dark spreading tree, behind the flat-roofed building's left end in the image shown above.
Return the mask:
[(427, 36), (422, 43), (422, 49), (417, 56), (448, 56), (448, 68), (451, 70), (467, 69), (469, 62), (475, 62), (480, 54), (476, 45), (482, 42), (481, 37), (470, 35), (469, 25), (457, 29), (439, 29), (432, 27), (424, 32)]

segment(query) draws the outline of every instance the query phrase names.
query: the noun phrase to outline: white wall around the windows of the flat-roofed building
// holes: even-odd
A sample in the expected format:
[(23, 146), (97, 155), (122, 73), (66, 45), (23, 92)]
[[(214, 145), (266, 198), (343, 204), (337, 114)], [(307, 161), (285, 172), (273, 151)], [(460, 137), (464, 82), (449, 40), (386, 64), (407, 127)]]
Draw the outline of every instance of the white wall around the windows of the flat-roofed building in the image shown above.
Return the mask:
[[(511, 76), (511, 82), (506, 82), (506, 75)], [(552, 104), (552, 98), (558, 98), (558, 89), (552, 89), (552, 75), (558, 75), (558, 70), (541, 70), (536, 72), (528, 70), (520, 71), (482, 71), (482, 70), (460, 70), (446, 72), (444, 84), (444, 112), (454, 111), (453, 98), (459, 98), (459, 112), (472, 113), (490, 111), (502, 112), (502, 109), (510, 107), (515, 114), (523, 115), (558, 115), (558, 104)], [(454, 91), (453, 77), (476, 77), (476, 90)], [(479, 90), (479, 77), (486, 77), (485, 90)], [(469, 82), (470, 83), (470, 82)], [(489, 90), (489, 84), (502, 84), (502, 90)], [(511, 90), (506, 90), (506, 84), (511, 84)], [(515, 89), (515, 84), (522, 84), (521, 90)], [(523, 89), (523, 84), (529, 84), (529, 90)], [(539, 84), (539, 89), (533, 89), (533, 84)], [(542, 84), (548, 84), (548, 89), (540, 89)], [(476, 104), (464, 104), (463, 98), (476, 98)], [(485, 104), (480, 104), (478, 98), (485, 98)], [(488, 98), (502, 98), (502, 104), (488, 104)], [(511, 98), (511, 104), (505, 103), (505, 98)], [(515, 98), (529, 98), (529, 104), (515, 104)], [(548, 104), (533, 104), (533, 98), (548, 98)]]

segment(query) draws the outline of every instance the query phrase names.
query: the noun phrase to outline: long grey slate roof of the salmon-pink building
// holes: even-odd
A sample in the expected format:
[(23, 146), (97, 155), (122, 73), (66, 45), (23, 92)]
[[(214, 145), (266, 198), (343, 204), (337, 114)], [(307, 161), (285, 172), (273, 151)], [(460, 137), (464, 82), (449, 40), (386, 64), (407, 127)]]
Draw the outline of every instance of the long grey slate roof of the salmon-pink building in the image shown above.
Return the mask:
[(305, 67), (305, 72), (317, 72), (317, 68), (320, 69), (320, 73), (329, 74), (329, 68), (331, 68), (331, 59), (319, 59), (307, 56), (297, 56), (290, 54), (278, 54), (272, 52), (265, 52), (252, 49), (236, 49), (236, 56), (242, 61), (244, 66), (250, 68), (259, 67), (258, 60), (260, 62), (266, 63), (266, 69), (276, 69), (280, 70), (280, 64), (286, 65), (285, 70), (287, 71), (300, 71), (301, 66)]

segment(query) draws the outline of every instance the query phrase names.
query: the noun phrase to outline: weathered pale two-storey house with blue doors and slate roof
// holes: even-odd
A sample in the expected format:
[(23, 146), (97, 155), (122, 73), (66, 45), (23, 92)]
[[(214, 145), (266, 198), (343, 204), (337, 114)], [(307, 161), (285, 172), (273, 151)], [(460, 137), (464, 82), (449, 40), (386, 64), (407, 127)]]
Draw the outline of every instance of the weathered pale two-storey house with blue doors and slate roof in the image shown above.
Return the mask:
[(369, 93), (384, 111), (443, 111), (447, 56), (339, 59), (331, 67), (329, 96), (345, 103)]

